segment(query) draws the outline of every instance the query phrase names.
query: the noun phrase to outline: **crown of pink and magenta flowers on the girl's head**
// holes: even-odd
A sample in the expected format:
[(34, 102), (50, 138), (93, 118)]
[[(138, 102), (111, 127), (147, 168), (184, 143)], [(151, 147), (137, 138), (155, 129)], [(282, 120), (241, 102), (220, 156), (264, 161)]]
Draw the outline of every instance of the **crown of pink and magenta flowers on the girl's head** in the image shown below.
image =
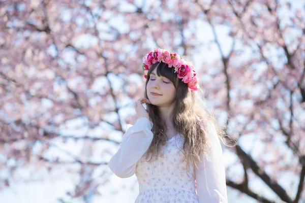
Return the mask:
[(175, 73), (177, 72), (177, 77), (182, 79), (182, 82), (188, 84), (189, 91), (197, 91), (199, 89), (195, 67), (188, 64), (183, 58), (180, 58), (177, 53), (168, 52), (160, 48), (155, 48), (154, 51), (146, 54), (144, 57), (144, 63), (142, 65), (145, 73), (144, 78), (147, 78), (147, 73), (151, 65), (157, 62), (164, 62), (168, 64), (168, 67), (173, 67), (175, 69)]

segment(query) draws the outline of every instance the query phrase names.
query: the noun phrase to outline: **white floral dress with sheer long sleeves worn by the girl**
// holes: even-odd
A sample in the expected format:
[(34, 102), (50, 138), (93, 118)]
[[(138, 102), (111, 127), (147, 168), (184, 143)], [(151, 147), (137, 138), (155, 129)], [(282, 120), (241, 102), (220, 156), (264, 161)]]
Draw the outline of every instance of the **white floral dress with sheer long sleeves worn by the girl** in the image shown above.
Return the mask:
[(227, 190), (222, 148), (213, 125), (208, 125), (211, 144), (210, 159), (202, 156), (195, 171), (188, 172), (186, 160), (180, 151), (184, 138), (177, 134), (162, 148), (161, 157), (147, 162), (143, 154), (153, 140), (153, 123), (141, 117), (136, 124), (128, 125), (118, 151), (109, 161), (110, 170), (120, 178), (136, 175), (139, 183), (139, 202), (192, 202), (226, 203)]

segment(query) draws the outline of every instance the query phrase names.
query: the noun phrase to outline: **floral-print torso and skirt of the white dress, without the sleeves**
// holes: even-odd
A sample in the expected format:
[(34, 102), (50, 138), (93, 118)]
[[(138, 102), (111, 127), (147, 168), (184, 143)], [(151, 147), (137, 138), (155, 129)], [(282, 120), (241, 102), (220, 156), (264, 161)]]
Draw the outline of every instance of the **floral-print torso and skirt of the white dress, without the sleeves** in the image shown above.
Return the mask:
[(146, 161), (142, 157), (136, 166), (139, 183), (139, 202), (190, 202), (198, 203), (196, 182), (191, 180), (194, 168), (186, 171), (182, 147), (184, 138), (177, 134), (161, 150), (157, 160)]

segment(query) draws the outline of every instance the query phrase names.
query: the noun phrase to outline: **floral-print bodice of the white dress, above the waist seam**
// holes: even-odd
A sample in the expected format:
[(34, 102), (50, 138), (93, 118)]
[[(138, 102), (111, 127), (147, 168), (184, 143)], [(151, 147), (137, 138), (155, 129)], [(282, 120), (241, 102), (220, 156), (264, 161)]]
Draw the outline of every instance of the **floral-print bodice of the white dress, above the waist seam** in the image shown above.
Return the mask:
[(184, 160), (183, 144), (184, 138), (177, 134), (161, 148), (160, 156), (156, 160), (151, 159), (148, 162), (143, 156), (138, 161), (135, 174), (140, 193), (149, 189), (175, 188), (182, 193), (188, 191), (195, 194), (196, 183), (192, 180), (194, 167), (186, 170), (187, 160)]

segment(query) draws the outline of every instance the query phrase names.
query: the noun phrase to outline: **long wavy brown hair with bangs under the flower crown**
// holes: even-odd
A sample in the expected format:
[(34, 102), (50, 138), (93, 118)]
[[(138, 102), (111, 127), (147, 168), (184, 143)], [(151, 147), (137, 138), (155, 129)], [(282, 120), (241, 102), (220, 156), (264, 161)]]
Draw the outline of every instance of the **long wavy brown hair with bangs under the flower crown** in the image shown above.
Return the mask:
[[(174, 85), (176, 96), (174, 100), (174, 108), (171, 112), (171, 119), (174, 129), (184, 137), (184, 144), (182, 152), (184, 153), (184, 160), (187, 160), (187, 168), (189, 171), (191, 164), (198, 168), (197, 163), (200, 156), (203, 154), (207, 160), (209, 158), (209, 142), (207, 140), (206, 124), (212, 122), (217, 130), (220, 140), (227, 145), (225, 127), (221, 127), (215, 116), (210, 114), (203, 99), (195, 91), (188, 90), (188, 84), (177, 78), (173, 68), (169, 68), (168, 64), (157, 62), (153, 64), (148, 73), (145, 83), (144, 97), (147, 97), (146, 86), (150, 78), (150, 73), (157, 69), (157, 75), (168, 78)], [(199, 91), (199, 90), (198, 90)], [(151, 131), (154, 133), (153, 141), (144, 156), (146, 159), (150, 157), (149, 161), (160, 155), (161, 147), (166, 144), (166, 125), (161, 117), (158, 106), (146, 104), (148, 115), (153, 122)], [(194, 167), (194, 171), (195, 171)], [(194, 173), (195, 174), (195, 173)], [(194, 177), (193, 177), (194, 179)]]

